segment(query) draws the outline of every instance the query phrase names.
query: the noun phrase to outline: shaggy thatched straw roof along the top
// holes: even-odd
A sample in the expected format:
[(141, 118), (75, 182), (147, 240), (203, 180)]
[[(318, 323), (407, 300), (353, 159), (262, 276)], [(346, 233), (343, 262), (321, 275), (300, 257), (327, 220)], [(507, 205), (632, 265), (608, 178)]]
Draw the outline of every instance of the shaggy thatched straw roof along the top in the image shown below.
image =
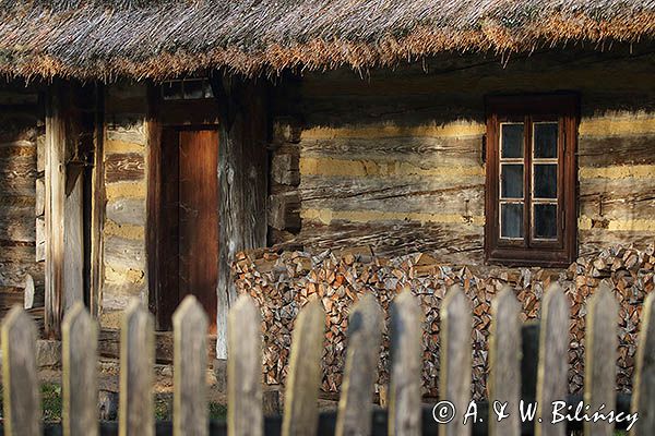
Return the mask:
[(368, 69), (655, 36), (655, 0), (0, 0), (0, 73), (164, 78)]

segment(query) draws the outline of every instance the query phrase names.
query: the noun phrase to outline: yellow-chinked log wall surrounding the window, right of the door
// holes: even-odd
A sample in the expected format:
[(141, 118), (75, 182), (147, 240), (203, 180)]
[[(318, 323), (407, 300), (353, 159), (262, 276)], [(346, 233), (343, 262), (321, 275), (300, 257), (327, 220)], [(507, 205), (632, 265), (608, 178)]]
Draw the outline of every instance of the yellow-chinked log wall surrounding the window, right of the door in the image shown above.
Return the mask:
[(484, 262), (484, 98), (577, 92), (579, 252), (655, 234), (655, 56), (535, 52), (284, 77), (273, 108), (270, 243)]

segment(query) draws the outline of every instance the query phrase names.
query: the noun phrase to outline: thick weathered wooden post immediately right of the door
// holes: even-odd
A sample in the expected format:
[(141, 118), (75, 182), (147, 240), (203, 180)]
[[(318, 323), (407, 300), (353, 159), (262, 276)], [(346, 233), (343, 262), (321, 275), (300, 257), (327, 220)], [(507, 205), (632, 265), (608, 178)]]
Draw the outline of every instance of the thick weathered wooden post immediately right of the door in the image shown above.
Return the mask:
[(227, 359), (227, 314), (237, 300), (230, 263), (239, 251), (266, 245), (266, 88), (237, 76), (216, 80), (218, 132), (218, 312), (216, 359)]

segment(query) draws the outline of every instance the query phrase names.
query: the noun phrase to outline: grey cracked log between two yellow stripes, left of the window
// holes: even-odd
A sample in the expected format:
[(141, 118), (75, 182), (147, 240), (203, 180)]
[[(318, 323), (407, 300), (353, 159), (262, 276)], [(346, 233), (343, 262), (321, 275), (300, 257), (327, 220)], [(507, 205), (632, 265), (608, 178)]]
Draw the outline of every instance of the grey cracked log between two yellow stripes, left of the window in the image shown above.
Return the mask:
[(306, 209), (384, 210), (483, 216), (483, 177), (329, 178), (303, 175), (298, 192)]

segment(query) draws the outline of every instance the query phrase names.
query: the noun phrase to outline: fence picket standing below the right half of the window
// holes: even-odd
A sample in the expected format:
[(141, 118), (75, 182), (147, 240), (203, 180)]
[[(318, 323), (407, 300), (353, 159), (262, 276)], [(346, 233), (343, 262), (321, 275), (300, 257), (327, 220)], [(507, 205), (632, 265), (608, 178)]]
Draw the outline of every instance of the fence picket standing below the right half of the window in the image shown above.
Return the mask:
[(567, 398), (569, 316), (567, 295), (558, 284), (551, 284), (541, 304), (535, 436), (563, 436), (567, 431), (564, 421), (551, 424), (552, 416), (547, 415), (544, 408), (550, 410), (553, 401)]

